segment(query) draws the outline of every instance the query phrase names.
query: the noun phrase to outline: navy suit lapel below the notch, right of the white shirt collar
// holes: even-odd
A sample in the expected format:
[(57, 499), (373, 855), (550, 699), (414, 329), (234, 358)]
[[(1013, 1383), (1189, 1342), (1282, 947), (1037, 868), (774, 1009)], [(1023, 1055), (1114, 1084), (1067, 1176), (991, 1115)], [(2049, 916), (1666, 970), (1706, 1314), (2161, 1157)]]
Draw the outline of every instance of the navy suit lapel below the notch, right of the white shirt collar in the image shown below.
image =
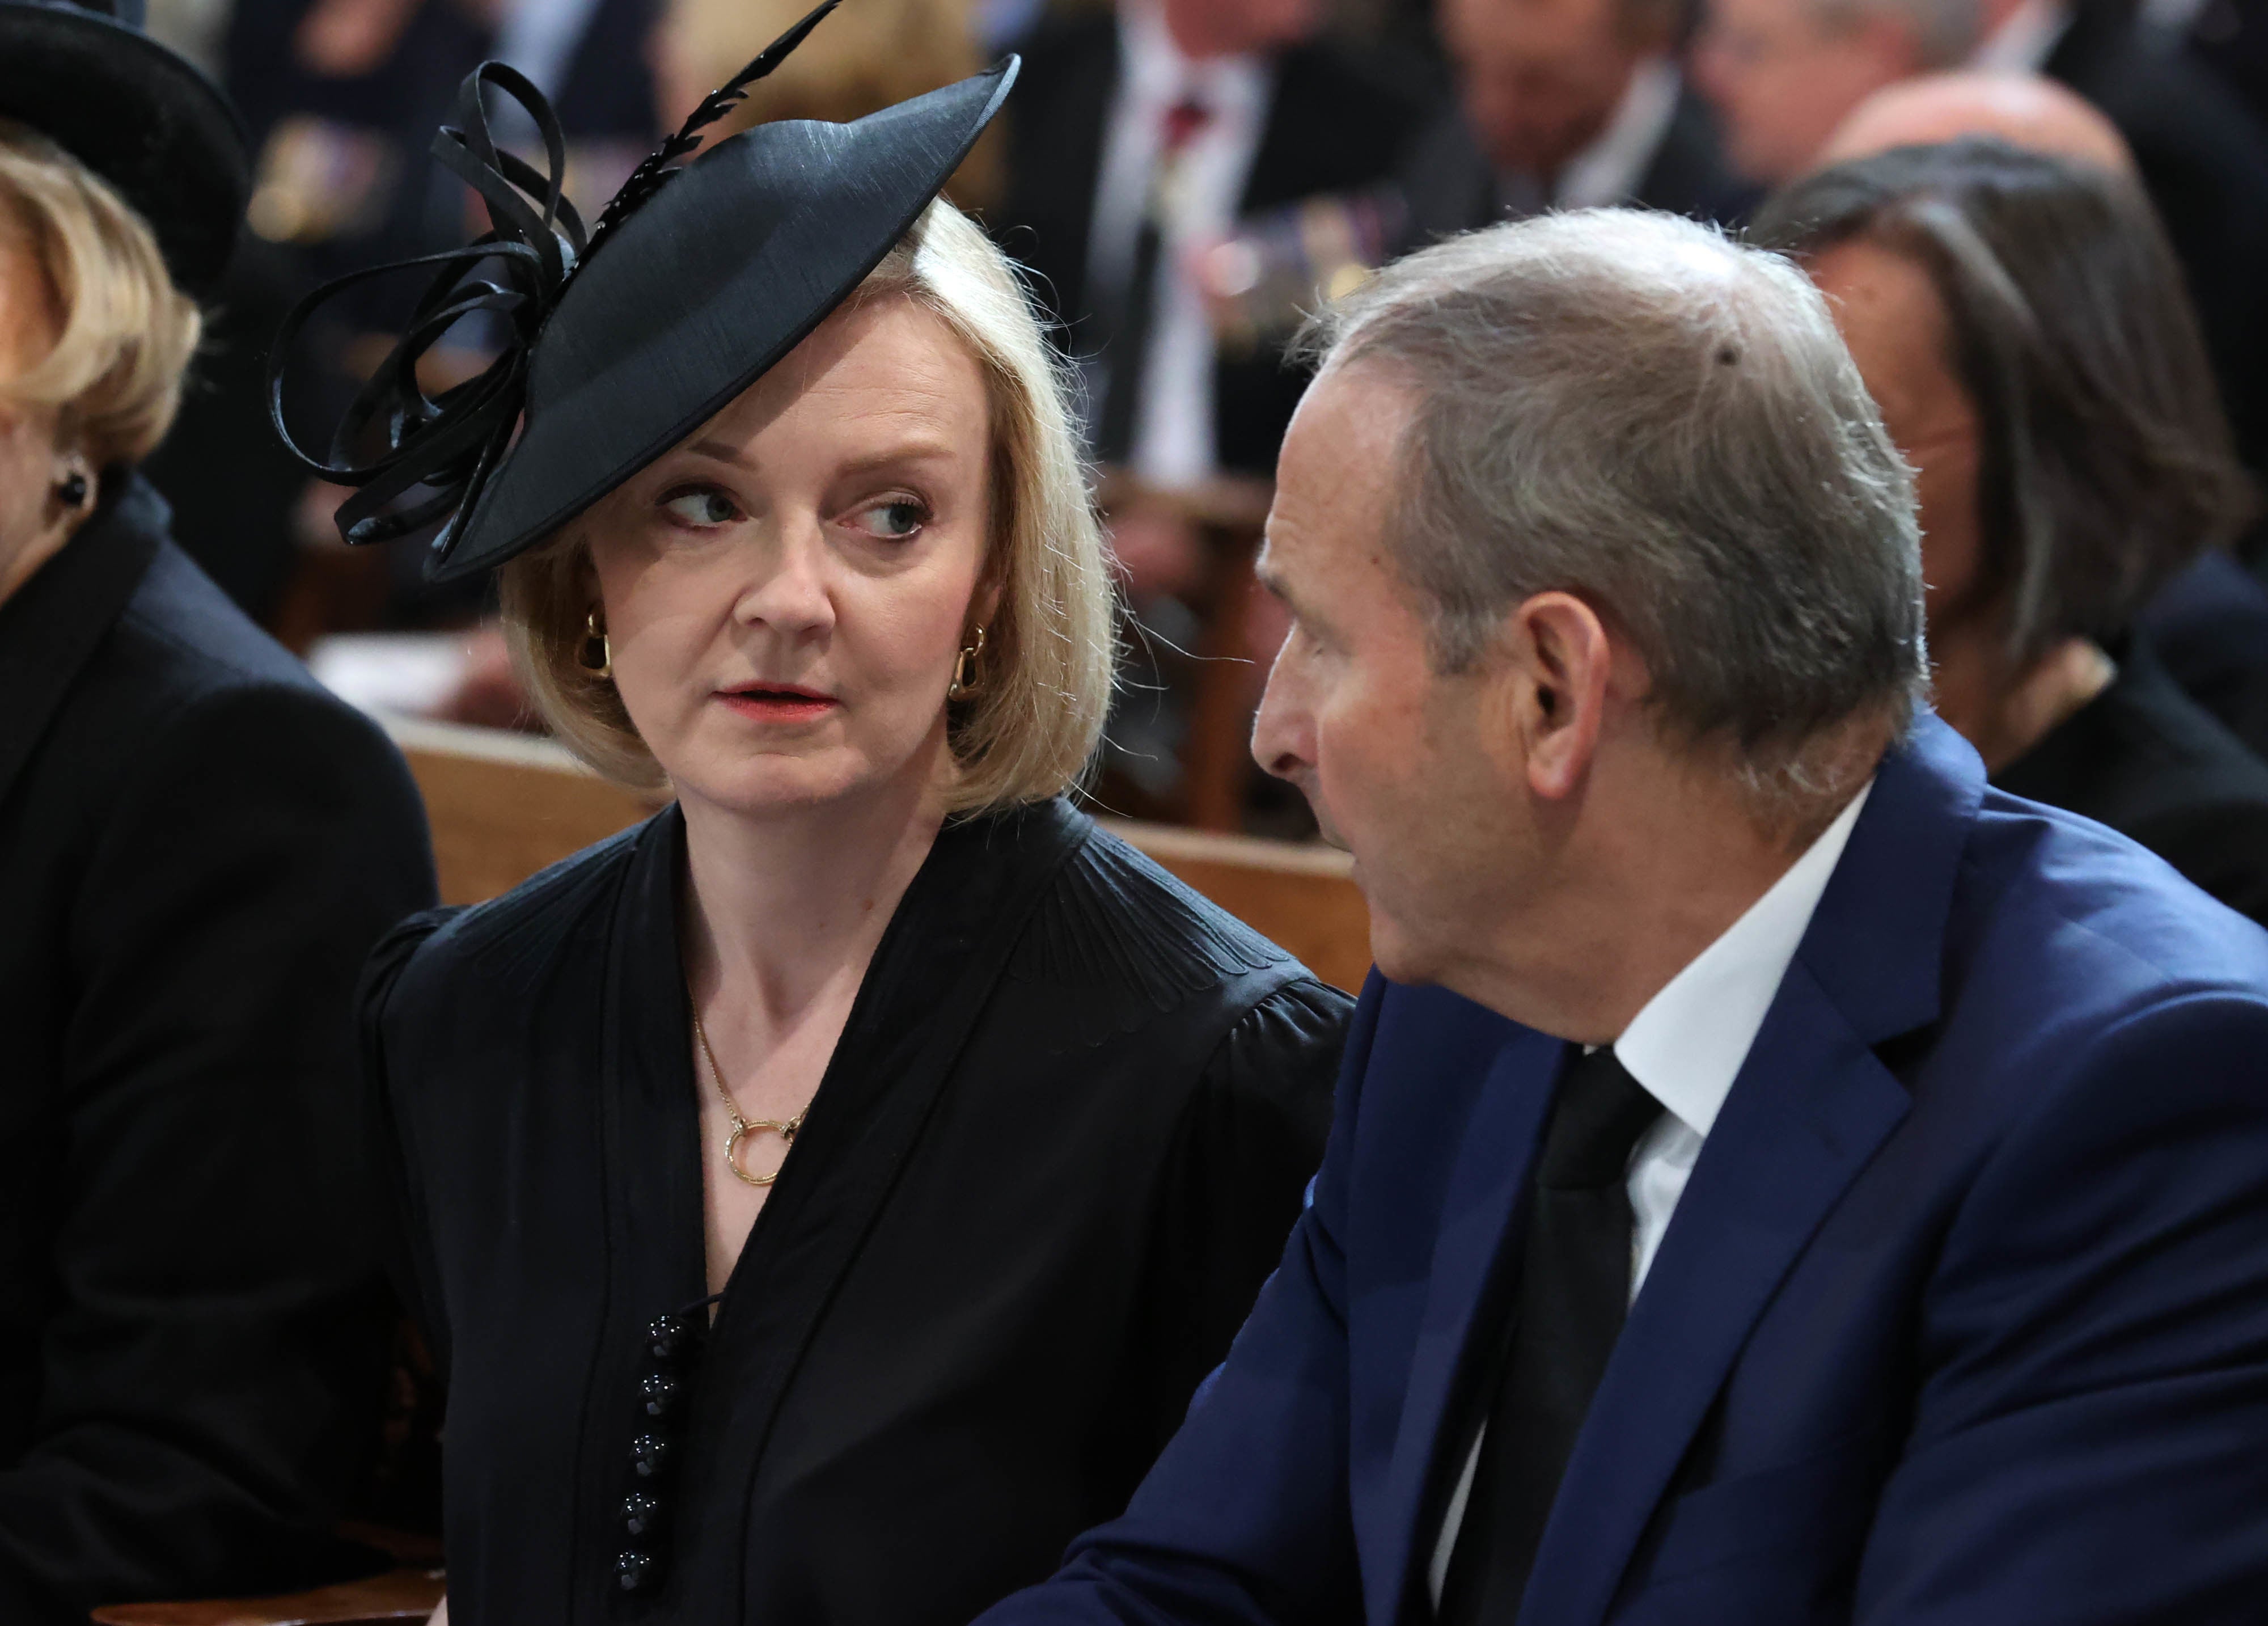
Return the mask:
[(1792, 966), (1592, 1399), (1522, 1621), (1606, 1617), (1749, 1329), (1905, 1109), (1889, 1068)]

